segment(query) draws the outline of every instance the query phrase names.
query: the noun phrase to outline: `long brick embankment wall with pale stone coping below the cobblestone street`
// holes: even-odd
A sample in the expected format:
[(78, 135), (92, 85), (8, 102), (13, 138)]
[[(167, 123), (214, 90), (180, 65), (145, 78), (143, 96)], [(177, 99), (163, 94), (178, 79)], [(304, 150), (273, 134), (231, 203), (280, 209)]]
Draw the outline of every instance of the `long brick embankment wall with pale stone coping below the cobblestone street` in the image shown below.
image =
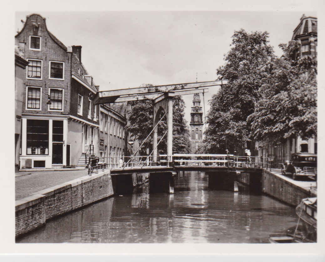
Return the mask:
[(114, 194), (110, 172), (80, 177), (16, 201), (16, 237), (46, 220)]

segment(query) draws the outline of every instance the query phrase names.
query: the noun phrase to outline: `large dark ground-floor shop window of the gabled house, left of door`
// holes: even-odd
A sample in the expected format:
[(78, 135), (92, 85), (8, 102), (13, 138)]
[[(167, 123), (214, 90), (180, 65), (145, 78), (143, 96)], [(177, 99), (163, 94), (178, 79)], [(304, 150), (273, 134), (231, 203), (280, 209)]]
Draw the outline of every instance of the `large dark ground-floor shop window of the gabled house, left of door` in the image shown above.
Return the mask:
[(27, 155), (48, 155), (48, 120), (27, 119)]

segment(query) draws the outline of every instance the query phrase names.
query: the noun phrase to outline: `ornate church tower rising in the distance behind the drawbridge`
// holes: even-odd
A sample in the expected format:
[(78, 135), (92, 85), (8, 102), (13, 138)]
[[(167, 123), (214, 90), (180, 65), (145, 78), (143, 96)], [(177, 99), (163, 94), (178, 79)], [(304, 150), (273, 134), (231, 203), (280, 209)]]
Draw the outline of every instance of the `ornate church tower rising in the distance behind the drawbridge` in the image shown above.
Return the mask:
[(200, 94), (194, 94), (193, 105), (191, 107), (191, 122), (190, 122), (190, 141), (191, 153), (195, 153), (199, 143), (203, 140), (203, 112), (201, 107)]

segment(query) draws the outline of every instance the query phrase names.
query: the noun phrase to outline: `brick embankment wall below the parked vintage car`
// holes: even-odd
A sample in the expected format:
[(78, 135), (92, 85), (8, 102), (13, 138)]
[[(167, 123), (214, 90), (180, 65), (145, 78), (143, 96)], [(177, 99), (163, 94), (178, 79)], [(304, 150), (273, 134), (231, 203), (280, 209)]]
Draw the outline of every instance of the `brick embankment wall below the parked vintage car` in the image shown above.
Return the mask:
[(265, 169), (262, 170), (262, 192), (293, 206), (297, 206), (303, 198), (315, 196), (309, 190), (290, 183)]

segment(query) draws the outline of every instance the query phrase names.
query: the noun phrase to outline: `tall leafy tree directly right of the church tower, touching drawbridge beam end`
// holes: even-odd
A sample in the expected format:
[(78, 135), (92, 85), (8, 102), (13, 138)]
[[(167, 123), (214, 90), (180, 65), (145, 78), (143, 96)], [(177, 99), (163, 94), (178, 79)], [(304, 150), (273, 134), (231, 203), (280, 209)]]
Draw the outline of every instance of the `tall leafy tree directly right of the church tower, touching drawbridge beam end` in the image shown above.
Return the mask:
[(254, 112), (259, 88), (269, 75), (269, 62), (274, 58), (267, 38), (267, 32), (234, 32), (232, 47), (224, 58), (226, 63), (217, 69), (218, 79), (228, 79), (228, 85), (213, 96), (207, 114), (208, 152), (225, 153), (226, 148), (238, 151), (245, 141), (251, 140), (247, 117)]

